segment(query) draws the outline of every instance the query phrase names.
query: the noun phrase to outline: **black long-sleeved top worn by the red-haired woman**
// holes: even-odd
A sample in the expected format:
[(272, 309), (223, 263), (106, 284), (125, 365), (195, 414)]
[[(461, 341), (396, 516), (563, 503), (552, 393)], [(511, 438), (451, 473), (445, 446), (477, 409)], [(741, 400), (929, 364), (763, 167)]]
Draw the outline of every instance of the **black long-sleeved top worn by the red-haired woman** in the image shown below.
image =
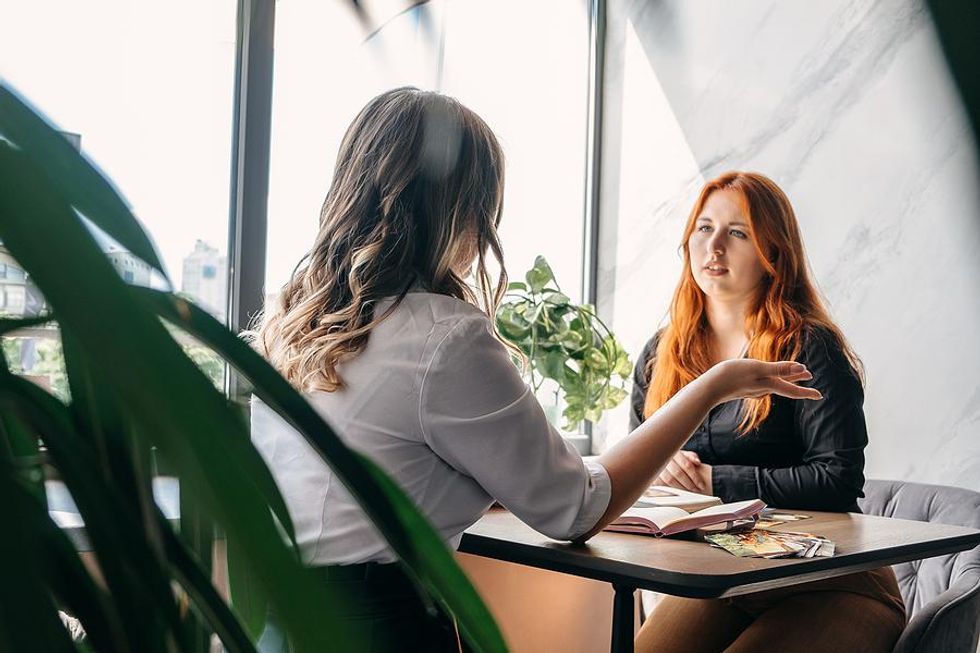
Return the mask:
[[(656, 355), (655, 335), (633, 370), (630, 430), (643, 421), (650, 380), (647, 361)], [(716, 406), (684, 445), (712, 466), (712, 493), (726, 503), (761, 498), (770, 506), (858, 512), (864, 493), (864, 389), (830, 333), (811, 329), (797, 359), (823, 399), (773, 396), (766, 420), (737, 432), (741, 401)]]

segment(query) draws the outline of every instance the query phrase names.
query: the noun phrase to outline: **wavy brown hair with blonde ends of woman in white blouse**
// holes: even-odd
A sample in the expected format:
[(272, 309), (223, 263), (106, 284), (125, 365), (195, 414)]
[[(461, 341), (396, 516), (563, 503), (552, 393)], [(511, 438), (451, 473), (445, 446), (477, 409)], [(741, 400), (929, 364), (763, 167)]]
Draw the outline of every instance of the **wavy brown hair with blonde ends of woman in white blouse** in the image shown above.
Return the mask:
[[(503, 153), (479, 116), (438, 93), (382, 93), (347, 129), (313, 248), (251, 332), (254, 345), (297, 388), (330, 392), (344, 386), (338, 364), (364, 349), (412, 286), (492, 316), (507, 288), (503, 192)], [(474, 258), (475, 289), (459, 270)]]

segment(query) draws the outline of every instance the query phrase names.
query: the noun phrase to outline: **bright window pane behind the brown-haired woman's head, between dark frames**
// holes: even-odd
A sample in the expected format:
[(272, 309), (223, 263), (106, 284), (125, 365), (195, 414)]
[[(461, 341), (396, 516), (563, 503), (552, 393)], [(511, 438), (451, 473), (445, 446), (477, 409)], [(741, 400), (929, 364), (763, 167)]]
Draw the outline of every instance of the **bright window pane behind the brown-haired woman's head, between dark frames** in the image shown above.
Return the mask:
[[(459, 98), (507, 155), (501, 236), (522, 278), (544, 254), (580, 294), (588, 15), (584, 2), (373, 3), (365, 28), (343, 3), (277, 5), (267, 297), (316, 233), (344, 130), (378, 93), (402, 85)], [(392, 7), (387, 11), (385, 7)], [(506, 47), (502, 47), (506, 44)]]

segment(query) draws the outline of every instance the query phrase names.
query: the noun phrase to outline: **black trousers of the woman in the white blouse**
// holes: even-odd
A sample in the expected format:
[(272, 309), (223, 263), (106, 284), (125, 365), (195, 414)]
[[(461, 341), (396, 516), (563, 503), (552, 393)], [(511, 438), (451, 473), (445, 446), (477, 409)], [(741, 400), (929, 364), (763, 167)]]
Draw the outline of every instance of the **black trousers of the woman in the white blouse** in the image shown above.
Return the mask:
[[(456, 653), (455, 625), (430, 613), (399, 564), (367, 562), (314, 567), (310, 573), (340, 599), (335, 616), (351, 627), (356, 650), (364, 653)], [(260, 653), (289, 653), (287, 637), (270, 616), (258, 642)], [(465, 651), (465, 649), (463, 649)]]

